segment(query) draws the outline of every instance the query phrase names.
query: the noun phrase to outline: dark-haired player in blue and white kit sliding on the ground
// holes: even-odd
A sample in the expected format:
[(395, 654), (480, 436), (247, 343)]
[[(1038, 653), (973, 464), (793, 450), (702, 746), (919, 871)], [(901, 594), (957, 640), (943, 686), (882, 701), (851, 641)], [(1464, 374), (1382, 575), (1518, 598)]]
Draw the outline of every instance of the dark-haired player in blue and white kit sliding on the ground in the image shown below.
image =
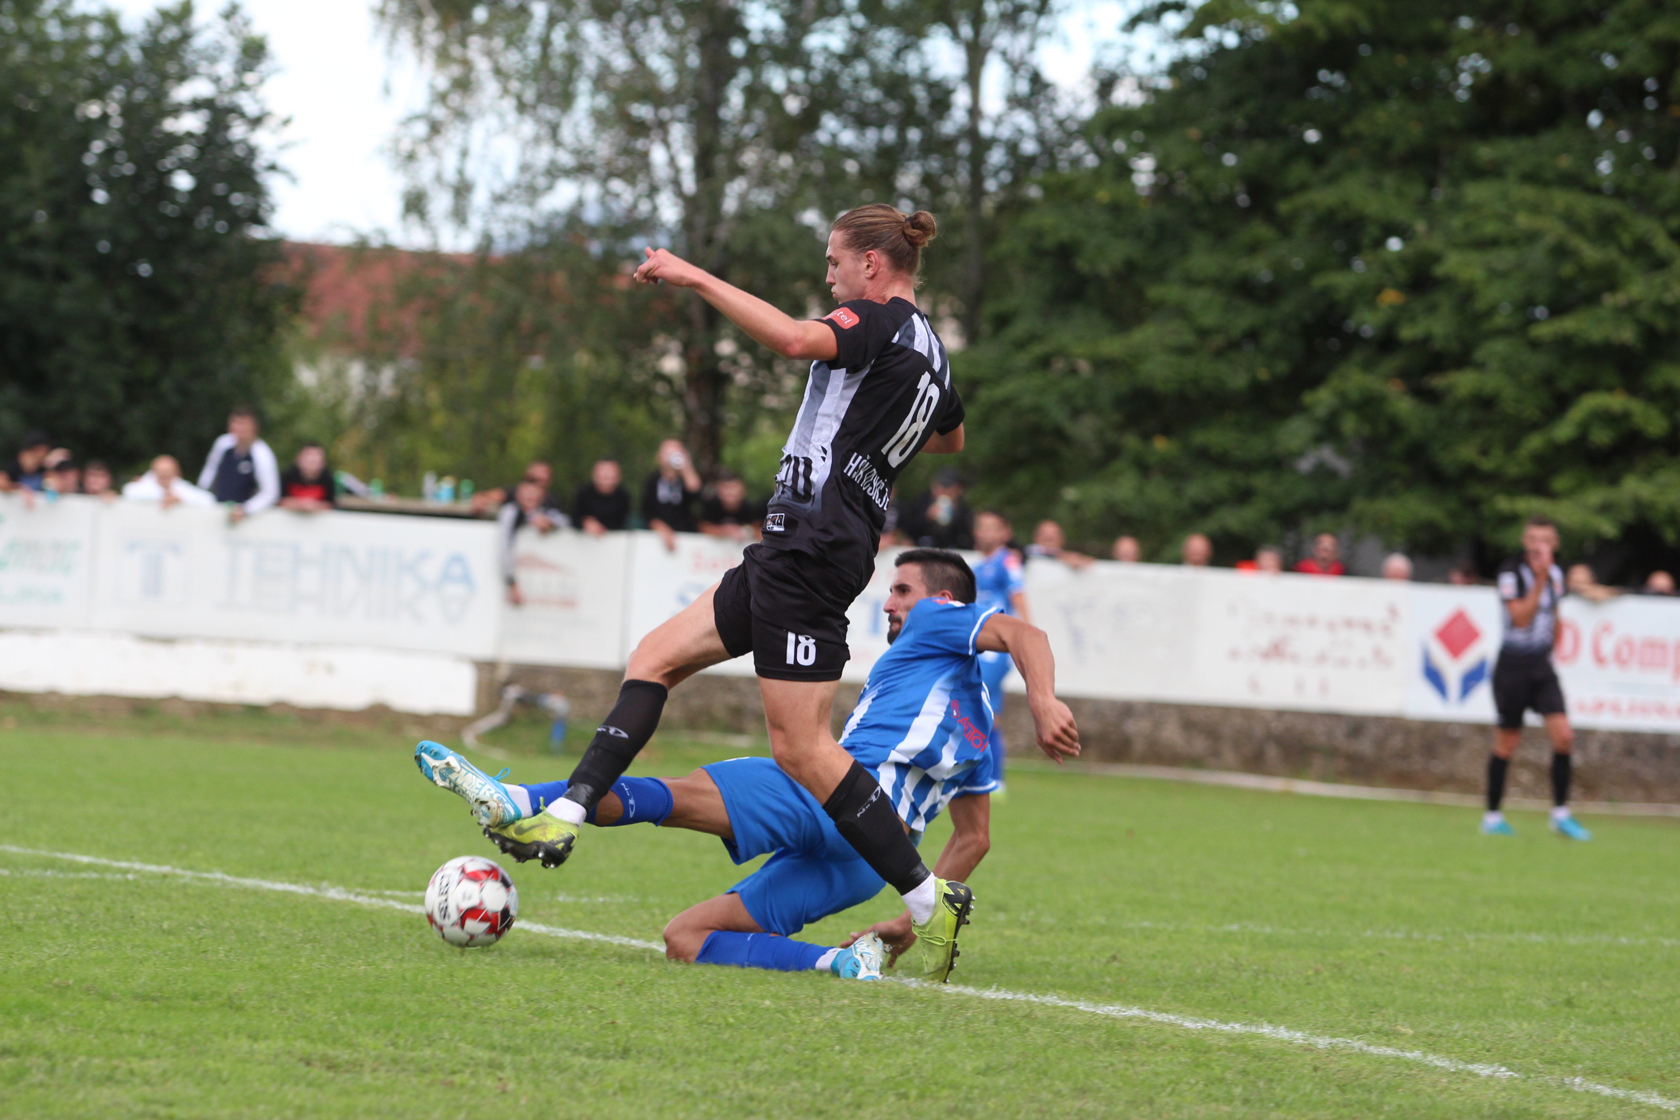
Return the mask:
[[(1055, 761), (1079, 754), (1079, 729), (1055, 699), (1055, 658), (1042, 630), (974, 601), (974, 574), (956, 552), (912, 549), (897, 557), (885, 611), (889, 650), (870, 670), (840, 746), (880, 782), (912, 841), (951, 806), (954, 831), (936, 865), (963, 878), (990, 845), (988, 794), (996, 788), (991, 709), (979, 657), (1011, 657), (1026, 680), (1038, 744)], [(435, 742), (415, 751), (420, 771), (460, 794), (486, 828), (539, 813), (568, 782), (504, 786)], [(677, 960), (853, 979), (880, 976), (884, 957), (916, 942), (911, 913), (855, 934), (845, 945), (793, 940), (805, 925), (874, 898), (885, 885), (840, 836), (822, 804), (773, 759), (714, 762), (687, 777), (620, 777), (591, 823), (654, 823), (722, 838), (729, 856), (771, 858), (727, 893), (694, 905), (665, 927)], [(944, 981), (951, 945), (921, 979)]]

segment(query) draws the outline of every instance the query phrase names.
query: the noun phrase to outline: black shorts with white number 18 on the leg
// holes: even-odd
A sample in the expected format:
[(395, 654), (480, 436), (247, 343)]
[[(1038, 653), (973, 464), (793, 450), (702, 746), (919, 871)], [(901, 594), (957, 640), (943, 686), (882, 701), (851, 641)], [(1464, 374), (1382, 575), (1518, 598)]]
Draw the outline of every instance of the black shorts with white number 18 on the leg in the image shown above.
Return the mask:
[(845, 613), (862, 591), (806, 552), (751, 544), (719, 581), (712, 620), (729, 657), (751, 652), (759, 677), (840, 680), (852, 660)]

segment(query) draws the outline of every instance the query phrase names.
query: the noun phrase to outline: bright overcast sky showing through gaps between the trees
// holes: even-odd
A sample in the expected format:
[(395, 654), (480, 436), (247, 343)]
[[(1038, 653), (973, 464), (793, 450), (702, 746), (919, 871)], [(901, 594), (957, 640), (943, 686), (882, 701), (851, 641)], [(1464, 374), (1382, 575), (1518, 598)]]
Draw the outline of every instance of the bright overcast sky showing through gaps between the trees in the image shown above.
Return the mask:
[[(113, 0), (131, 20), (155, 0)], [(358, 235), (415, 245), (402, 228), (402, 185), (386, 146), (405, 113), (418, 107), (420, 82), (405, 57), (388, 54), (365, 0), (242, 0), (267, 35), (277, 74), (269, 106), (291, 124), (282, 133), (276, 183), (276, 228), (292, 240), (348, 242)], [(1079, 81), (1092, 57), (1119, 40), (1136, 3), (1074, 0), (1060, 34), (1045, 49), (1045, 69)], [(212, 10), (210, 3), (200, 7)]]

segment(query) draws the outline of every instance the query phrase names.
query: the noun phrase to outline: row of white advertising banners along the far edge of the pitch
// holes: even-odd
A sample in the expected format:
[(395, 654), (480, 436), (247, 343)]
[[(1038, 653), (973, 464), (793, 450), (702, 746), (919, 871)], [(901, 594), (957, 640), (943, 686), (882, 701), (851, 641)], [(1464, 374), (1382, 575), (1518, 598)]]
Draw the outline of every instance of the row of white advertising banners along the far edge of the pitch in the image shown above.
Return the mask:
[[(622, 668), (741, 541), (470, 519), (0, 497), (0, 688), (472, 714), (484, 665)], [(847, 678), (885, 650), (892, 551), (852, 606)], [(1050, 557), (1026, 564), (1068, 697), (1488, 724), (1490, 588)], [(1680, 601), (1562, 604), (1581, 727), (1680, 732)], [(749, 675), (746, 658), (711, 670)], [(1006, 685), (1010, 687), (1010, 685)]]

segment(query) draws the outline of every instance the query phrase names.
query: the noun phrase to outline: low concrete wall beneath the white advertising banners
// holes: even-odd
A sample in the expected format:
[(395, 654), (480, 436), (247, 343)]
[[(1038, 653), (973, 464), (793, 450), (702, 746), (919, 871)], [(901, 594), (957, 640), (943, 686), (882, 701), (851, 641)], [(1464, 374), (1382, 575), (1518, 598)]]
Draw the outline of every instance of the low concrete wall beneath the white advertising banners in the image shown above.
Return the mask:
[[(502, 683), (559, 688), (573, 719), (601, 719), (618, 695), (622, 675), (606, 670), (484, 667), (479, 707), (489, 709)], [(840, 687), (835, 725), (857, 700), (858, 687)], [(1070, 699), (1085, 757), (1092, 762), (1146, 762), (1243, 771), (1278, 777), (1478, 794), (1494, 732), (1480, 724), (1406, 720), (1386, 715), (1273, 712), (1238, 707)], [(696, 677), (675, 688), (665, 727), (763, 734), (764, 709), (749, 677)], [(1011, 695), (1003, 712), (1011, 757), (1033, 757), (1026, 700)], [(1512, 767), (1510, 793), (1549, 798), (1551, 747), (1529, 729)], [(1680, 804), (1680, 735), (1655, 732), (1576, 732), (1576, 789), (1583, 801)]]

